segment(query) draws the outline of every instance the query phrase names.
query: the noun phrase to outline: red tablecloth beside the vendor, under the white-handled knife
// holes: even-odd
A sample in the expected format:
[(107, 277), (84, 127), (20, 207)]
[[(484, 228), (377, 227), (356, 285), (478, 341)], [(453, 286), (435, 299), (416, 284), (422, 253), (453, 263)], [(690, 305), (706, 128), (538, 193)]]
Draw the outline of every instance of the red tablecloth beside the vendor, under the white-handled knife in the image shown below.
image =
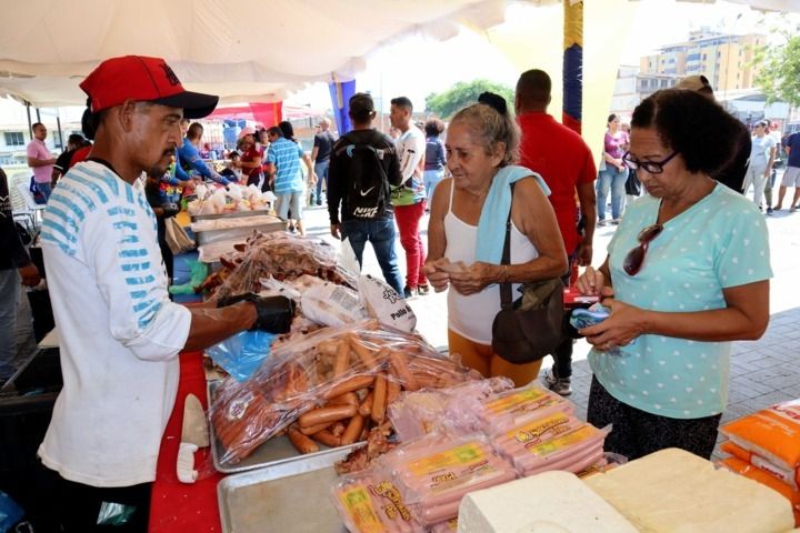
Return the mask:
[(161, 440), (156, 482), (150, 505), (150, 533), (221, 532), (217, 504), (217, 483), (222, 475), (213, 470), (211, 452), (204, 447), (194, 454), (199, 480), (192, 484), (178, 481), (176, 461), (183, 423), (183, 401), (192, 393), (208, 409), (206, 373), (200, 352), (180, 355), (180, 383), (172, 415)]

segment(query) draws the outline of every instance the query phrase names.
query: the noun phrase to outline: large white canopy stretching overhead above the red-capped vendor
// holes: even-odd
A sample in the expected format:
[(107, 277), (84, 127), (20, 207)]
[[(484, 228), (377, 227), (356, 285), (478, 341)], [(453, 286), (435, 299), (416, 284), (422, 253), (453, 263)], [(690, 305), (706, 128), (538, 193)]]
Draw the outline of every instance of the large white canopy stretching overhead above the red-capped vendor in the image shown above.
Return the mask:
[(37, 107), (81, 105), (78, 83), (98, 62), (140, 54), (166, 58), (184, 87), (223, 103), (278, 101), (304, 83), (353, 79), (366, 54), (410, 33), (443, 40), (459, 24), (499, 24), (508, 3), (1, 0), (0, 94)]

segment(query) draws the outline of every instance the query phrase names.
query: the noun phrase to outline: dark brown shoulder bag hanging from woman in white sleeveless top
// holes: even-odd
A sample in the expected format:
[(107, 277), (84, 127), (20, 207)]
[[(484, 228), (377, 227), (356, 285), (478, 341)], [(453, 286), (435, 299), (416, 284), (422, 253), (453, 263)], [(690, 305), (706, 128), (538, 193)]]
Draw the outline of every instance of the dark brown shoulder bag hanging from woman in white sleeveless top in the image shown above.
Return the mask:
[[(513, 183), (511, 184), (513, 198)], [(511, 209), (501, 264), (511, 264)], [(563, 342), (563, 283), (559, 278), (523, 283), (511, 300), (511, 283), (500, 283), (500, 312), (492, 323), (492, 350), (513, 364), (531, 363)]]

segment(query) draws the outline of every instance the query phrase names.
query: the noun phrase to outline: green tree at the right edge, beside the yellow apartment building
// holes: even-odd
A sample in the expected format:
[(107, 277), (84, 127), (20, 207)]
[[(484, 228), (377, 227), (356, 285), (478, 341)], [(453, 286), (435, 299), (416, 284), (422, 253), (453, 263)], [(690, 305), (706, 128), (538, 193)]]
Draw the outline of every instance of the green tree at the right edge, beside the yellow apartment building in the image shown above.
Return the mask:
[(782, 33), (783, 44), (756, 50), (753, 64), (760, 67), (756, 84), (769, 103), (780, 100), (800, 107), (800, 36)]

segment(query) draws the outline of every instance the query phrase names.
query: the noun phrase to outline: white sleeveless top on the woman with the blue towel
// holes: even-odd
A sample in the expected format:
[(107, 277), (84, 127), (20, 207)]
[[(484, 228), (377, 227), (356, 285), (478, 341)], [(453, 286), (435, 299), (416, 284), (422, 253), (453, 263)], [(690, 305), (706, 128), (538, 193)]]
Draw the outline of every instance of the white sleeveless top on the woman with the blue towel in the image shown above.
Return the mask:
[[(447, 249), (444, 257), (452, 263), (462, 261), (469, 265), (476, 262), (478, 227), (470, 225), (452, 212), (454, 184), (450, 181), (450, 205), (444, 215)], [(503, 214), (502, 217), (507, 217)], [(506, 235), (498, 235), (504, 239)], [(533, 243), (511, 222), (511, 264), (527, 263), (539, 257)], [(520, 294), (520, 283), (511, 285), (512, 299)], [(491, 344), (491, 326), (500, 311), (500, 285), (487, 285), (481, 292), (464, 296), (452, 286), (448, 291), (448, 328), (459, 335), (480, 344)]]

